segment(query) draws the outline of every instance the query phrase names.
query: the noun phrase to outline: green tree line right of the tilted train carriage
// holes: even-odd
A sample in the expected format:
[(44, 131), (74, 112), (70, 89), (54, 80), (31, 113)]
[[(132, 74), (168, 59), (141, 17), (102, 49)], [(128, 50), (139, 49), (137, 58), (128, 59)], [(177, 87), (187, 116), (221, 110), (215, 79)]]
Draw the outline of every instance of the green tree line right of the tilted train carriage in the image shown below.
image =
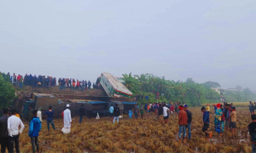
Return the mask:
[[(186, 82), (166, 80), (165, 77), (156, 77), (153, 74), (134, 75), (123, 74), (125, 85), (133, 94), (148, 95), (148, 102), (172, 101), (182, 102), (191, 106), (207, 103), (217, 103), (222, 96), (227, 96), (227, 102), (248, 101), (256, 99), (249, 88), (235, 94), (218, 94), (212, 88), (220, 88), (218, 82), (198, 83), (188, 78)], [(156, 99), (156, 94), (160, 99)], [(238, 96), (240, 95), (240, 96)], [(242, 97), (242, 98), (241, 98)], [(146, 103), (146, 99), (140, 99), (139, 103)]]

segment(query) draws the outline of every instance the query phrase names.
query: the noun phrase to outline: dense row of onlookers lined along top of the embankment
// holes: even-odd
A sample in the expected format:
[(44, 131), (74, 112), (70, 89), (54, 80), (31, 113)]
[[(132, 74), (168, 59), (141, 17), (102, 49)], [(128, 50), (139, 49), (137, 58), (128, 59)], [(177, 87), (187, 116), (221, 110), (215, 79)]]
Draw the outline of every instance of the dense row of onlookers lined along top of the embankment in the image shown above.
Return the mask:
[(84, 91), (90, 89), (91, 87), (95, 87), (95, 83), (91, 84), (90, 81), (75, 81), (75, 79), (72, 78), (59, 78), (57, 80), (55, 77), (46, 77), (41, 75), (37, 77), (36, 75), (32, 76), (32, 74), (26, 74), (24, 77), (20, 74), (16, 76), (15, 73), (10, 75), (9, 72), (7, 74), (0, 72), (0, 74), (3, 75), (5, 80), (8, 80), (14, 85), (19, 85), (20, 88), (23, 88), (23, 84), (26, 86), (32, 86), (32, 88), (49, 88), (57, 86), (57, 83), (60, 87), (60, 90), (70, 88), (73, 90)]

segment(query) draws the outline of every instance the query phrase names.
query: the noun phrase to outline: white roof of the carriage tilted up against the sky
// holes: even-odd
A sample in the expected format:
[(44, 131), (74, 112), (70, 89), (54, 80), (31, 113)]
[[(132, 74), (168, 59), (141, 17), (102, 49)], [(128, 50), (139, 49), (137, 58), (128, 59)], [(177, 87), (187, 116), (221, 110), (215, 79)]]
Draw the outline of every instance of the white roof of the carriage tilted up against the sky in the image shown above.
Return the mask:
[(110, 82), (110, 84), (115, 90), (123, 94), (132, 95), (131, 91), (128, 88), (126, 88), (122, 82), (119, 82), (119, 80), (116, 77), (113, 77), (112, 74), (108, 72), (102, 72), (102, 75), (108, 78), (108, 82)]

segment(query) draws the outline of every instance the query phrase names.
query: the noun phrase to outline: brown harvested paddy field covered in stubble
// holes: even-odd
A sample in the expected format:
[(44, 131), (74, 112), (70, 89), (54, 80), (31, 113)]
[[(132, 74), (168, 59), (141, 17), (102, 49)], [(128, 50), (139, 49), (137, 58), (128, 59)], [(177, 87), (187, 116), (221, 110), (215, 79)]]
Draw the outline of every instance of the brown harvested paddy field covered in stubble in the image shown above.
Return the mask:
[[(107, 117), (100, 120), (84, 117), (82, 124), (79, 124), (79, 118), (73, 118), (70, 134), (61, 134), (62, 120), (55, 120), (56, 132), (50, 128), (48, 133), (44, 120), (38, 137), (40, 152), (251, 152), (247, 133), (251, 119), (247, 108), (236, 108), (236, 138), (227, 131), (218, 138), (211, 112), (209, 130), (213, 134), (209, 141), (201, 131), (201, 108), (189, 108), (189, 111), (193, 113), (192, 139), (187, 144), (177, 142), (177, 116), (171, 116), (166, 125), (161, 125), (155, 116), (148, 114), (143, 120), (124, 116), (119, 124), (112, 124)], [(31, 152), (28, 123), (25, 126), (20, 134), (20, 151)]]

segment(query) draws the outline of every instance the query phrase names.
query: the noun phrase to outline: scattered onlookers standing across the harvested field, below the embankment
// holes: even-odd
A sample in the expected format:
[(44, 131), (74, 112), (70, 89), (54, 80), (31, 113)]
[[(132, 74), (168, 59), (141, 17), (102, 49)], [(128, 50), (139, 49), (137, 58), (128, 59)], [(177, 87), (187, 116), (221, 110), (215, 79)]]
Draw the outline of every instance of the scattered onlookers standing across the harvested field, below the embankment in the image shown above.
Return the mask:
[[(189, 107), (186, 104), (180, 105), (179, 102), (175, 103), (178, 111), (175, 111), (175, 106), (170, 103), (154, 103), (154, 104), (145, 104), (145, 105), (134, 105), (134, 107), (129, 111), (129, 118), (137, 119), (139, 115), (143, 119), (144, 113), (147, 113), (148, 116), (156, 116), (160, 123), (166, 124), (168, 122), (169, 116), (177, 116), (178, 117), (178, 142), (186, 143), (187, 141), (187, 133), (188, 139), (191, 139), (191, 122), (192, 122), (192, 113), (189, 111)], [(250, 108), (253, 105), (250, 102)], [(149, 110), (148, 110), (149, 108)], [(224, 134), (224, 130), (230, 131), (232, 136), (236, 135), (236, 107), (233, 104), (224, 103), (224, 105), (217, 104), (213, 105), (214, 113), (213, 113), (213, 121), (214, 121), (214, 130), (218, 133), (218, 137)], [(79, 109), (79, 123), (82, 122), (84, 116), (84, 105), (81, 105)], [(202, 132), (206, 133), (206, 140), (212, 138), (212, 132), (208, 130), (210, 125), (210, 106), (201, 107), (202, 111)], [(250, 110), (251, 111), (251, 110)], [(42, 112), (39, 109), (33, 110), (30, 106), (31, 118), (29, 118), (29, 137), (31, 138), (32, 151), (36, 152), (39, 150), (38, 144), (38, 134), (42, 128)], [(119, 122), (120, 110), (118, 104), (114, 106), (111, 105), (109, 108), (109, 113), (111, 116), (111, 122)], [(49, 131), (49, 124), (55, 130), (55, 124), (53, 122), (54, 111), (52, 107), (49, 106), (49, 111), (44, 113), (44, 116), (47, 117), (47, 127)], [(69, 105), (61, 114), (63, 118), (63, 128), (61, 129), (62, 133), (70, 133), (71, 131), (71, 111), (69, 110)], [(248, 131), (251, 135), (251, 140), (253, 143), (253, 152), (256, 150), (256, 115), (252, 113), (252, 123), (248, 125)], [(0, 117), (0, 143), (1, 143), (1, 152), (7, 148), (9, 152), (14, 151), (14, 144), (16, 152), (19, 152), (19, 136), (23, 132), (24, 124), (20, 120), (19, 111), (15, 109), (3, 109), (3, 116)], [(188, 131), (188, 132), (187, 132)], [(37, 148), (37, 150), (36, 150)]]

